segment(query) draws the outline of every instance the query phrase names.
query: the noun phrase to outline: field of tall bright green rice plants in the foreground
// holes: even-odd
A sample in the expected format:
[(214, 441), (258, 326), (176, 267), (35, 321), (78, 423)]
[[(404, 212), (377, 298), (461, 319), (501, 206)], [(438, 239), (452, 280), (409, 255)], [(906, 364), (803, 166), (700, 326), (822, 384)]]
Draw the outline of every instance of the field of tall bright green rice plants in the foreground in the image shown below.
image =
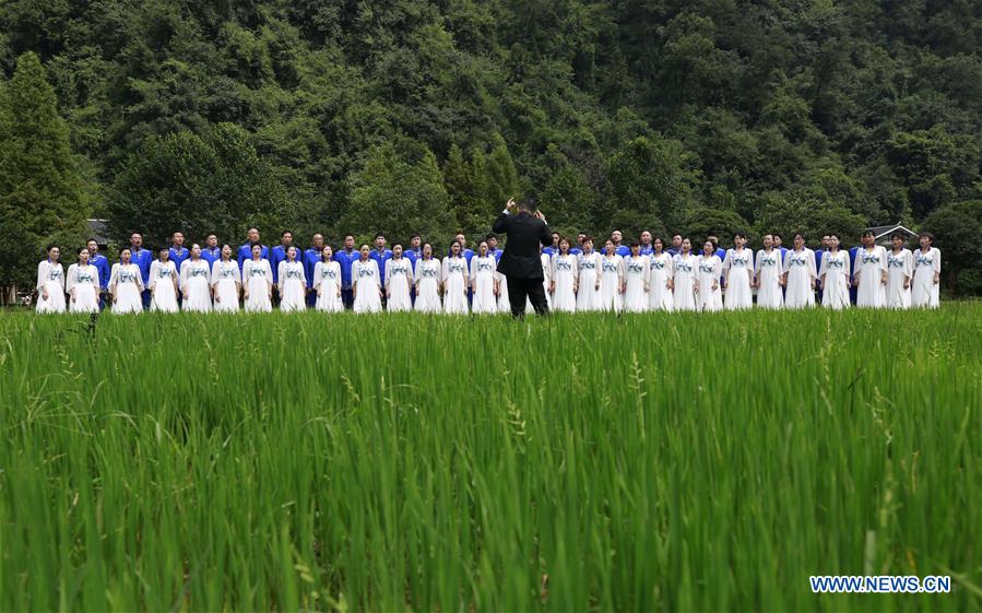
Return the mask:
[(979, 304), (0, 314), (0, 610), (982, 611), (980, 356)]

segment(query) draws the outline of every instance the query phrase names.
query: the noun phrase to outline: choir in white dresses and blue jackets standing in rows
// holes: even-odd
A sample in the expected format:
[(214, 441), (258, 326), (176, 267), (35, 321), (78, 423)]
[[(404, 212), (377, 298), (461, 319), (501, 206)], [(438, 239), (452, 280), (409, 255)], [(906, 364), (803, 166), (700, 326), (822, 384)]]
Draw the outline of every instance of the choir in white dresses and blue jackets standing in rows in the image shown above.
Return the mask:
[[(840, 249), (835, 235), (824, 236), (821, 249), (813, 251), (801, 234), (794, 235), (791, 249), (779, 235), (768, 234), (756, 254), (743, 234), (736, 234), (734, 247), (726, 250), (718, 247), (715, 237), (701, 249), (679, 234), (671, 246), (649, 232), (629, 246), (622, 240), (622, 233), (614, 231), (596, 251), (585, 234), (573, 244), (554, 233), (553, 245), (542, 250), (551, 308), (639, 313), (744, 309), (755, 304), (833, 309), (938, 305), (940, 252), (932, 247), (930, 233), (920, 235), (914, 252), (904, 248), (902, 235), (894, 235), (887, 250), (875, 244), (871, 232), (848, 251)], [(346, 235), (336, 251), (320, 234), (301, 251), (289, 232), (269, 248), (256, 228), (237, 250), (220, 245), (214, 234), (205, 237), (204, 247), (188, 249), (179, 232), (171, 243), (154, 259), (142, 236), (133, 234), (110, 269), (96, 241), (90, 240), (67, 273), (59, 248), (49, 247), (37, 269), (38, 313), (95, 313), (107, 300), (113, 313), (134, 314), (270, 311), (274, 304), (281, 310), (510, 313), (508, 284), (497, 272), (502, 251), (494, 234), (476, 250), (458, 234), (442, 260), (419, 236), (405, 248), (397, 243), (389, 249), (379, 234), (374, 248), (355, 249), (354, 236)]]

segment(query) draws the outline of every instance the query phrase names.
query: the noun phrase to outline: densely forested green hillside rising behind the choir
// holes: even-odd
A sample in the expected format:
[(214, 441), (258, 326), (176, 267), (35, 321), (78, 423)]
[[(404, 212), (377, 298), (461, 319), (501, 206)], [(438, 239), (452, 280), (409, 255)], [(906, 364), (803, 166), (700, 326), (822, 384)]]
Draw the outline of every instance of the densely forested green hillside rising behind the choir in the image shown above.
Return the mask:
[(0, 135), (31, 140), (20, 60), (57, 95), (68, 192), (152, 244), (440, 241), (525, 193), (566, 232), (851, 238), (982, 192), (970, 0), (4, 0), (0, 33)]

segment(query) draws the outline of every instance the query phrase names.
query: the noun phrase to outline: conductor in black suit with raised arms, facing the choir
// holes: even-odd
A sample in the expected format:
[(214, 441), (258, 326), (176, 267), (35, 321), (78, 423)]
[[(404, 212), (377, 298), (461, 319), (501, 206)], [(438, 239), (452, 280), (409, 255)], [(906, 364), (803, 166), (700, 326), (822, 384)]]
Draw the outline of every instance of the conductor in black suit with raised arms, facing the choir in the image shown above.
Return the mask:
[(540, 247), (552, 245), (553, 234), (535, 201), (525, 198), (516, 207), (514, 200), (509, 200), (492, 227), (498, 234), (508, 235), (505, 254), (498, 262), (498, 272), (508, 281), (508, 302), (511, 304), (512, 317), (524, 316), (525, 296), (536, 314), (548, 315)]

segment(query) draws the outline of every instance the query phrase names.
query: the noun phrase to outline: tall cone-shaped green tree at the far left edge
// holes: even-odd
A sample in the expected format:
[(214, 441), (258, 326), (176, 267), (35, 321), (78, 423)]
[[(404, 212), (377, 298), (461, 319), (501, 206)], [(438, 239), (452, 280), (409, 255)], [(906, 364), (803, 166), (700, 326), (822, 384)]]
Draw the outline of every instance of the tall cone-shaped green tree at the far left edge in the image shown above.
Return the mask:
[(88, 212), (55, 90), (38, 57), (24, 54), (0, 84), (0, 285), (32, 286), (49, 243), (71, 261)]

